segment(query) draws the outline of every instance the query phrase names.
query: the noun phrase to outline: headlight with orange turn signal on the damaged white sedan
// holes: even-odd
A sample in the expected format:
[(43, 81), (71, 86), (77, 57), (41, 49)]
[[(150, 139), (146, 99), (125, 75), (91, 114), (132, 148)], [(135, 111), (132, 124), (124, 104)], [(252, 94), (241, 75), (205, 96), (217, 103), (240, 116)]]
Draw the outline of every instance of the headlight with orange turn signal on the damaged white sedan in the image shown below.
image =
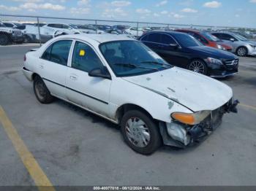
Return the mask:
[(192, 114), (174, 112), (171, 114), (171, 117), (173, 117), (174, 120), (177, 120), (178, 122), (182, 122), (187, 125), (197, 125), (198, 123), (203, 121), (209, 114), (211, 114), (211, 111), (208, 110), (195, 112)]

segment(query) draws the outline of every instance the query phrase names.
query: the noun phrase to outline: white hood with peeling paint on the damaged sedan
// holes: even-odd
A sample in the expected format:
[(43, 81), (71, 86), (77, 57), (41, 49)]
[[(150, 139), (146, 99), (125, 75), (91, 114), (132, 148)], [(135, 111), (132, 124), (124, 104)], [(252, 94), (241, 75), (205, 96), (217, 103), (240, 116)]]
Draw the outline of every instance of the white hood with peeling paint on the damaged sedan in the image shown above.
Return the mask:
[[(224, 83), (178, 67), (123, 79), (176, 101), (193, 112), (217, 109), (233, 96), (231, 88)], [(151, 103), (157, 104), (157, 100)]]

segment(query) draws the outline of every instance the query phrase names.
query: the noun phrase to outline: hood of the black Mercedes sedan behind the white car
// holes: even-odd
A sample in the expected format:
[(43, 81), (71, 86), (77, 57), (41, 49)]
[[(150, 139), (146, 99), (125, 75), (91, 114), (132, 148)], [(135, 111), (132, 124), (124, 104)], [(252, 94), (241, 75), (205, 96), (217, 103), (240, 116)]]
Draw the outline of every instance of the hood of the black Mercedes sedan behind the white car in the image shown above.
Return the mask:
[(217, 58), (217, 59), (235, 59), (235, 55), (230, 52), (219, 50), (214, 47), (206, 47), (206, 46), (198, 46), (198, 47), (189, 47), (190, 50), (196, 52), (200, 52), (206, 57)]

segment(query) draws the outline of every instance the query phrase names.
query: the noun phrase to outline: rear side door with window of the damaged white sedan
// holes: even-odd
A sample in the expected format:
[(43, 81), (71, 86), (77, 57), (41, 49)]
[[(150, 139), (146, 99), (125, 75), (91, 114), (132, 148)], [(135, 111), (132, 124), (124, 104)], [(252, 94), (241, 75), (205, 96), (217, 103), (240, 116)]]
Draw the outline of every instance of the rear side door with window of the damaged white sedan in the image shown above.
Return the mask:
[(50, 44), (39, 59), (39, 75), (50, 93), (65, 98), (67, 63), (72, 40), (63, 39)]

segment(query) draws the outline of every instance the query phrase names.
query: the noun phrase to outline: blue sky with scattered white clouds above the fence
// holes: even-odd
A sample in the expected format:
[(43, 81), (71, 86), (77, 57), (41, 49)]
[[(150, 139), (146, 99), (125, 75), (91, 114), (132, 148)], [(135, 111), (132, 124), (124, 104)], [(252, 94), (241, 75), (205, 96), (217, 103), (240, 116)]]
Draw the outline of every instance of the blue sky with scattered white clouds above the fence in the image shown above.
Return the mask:
[(0, 14), (256, 28), (256, 0), (1, 0)]

